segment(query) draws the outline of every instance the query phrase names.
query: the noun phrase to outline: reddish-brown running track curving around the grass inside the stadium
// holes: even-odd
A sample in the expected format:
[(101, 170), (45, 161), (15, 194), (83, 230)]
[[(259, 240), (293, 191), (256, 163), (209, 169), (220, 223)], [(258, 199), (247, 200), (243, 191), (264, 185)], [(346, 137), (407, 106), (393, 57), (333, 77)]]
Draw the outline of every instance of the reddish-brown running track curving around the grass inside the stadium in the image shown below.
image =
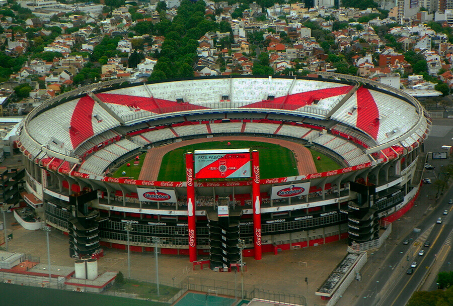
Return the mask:
[(157, 180), (159, 169), (161, 169), (162, 158), (165, 154), (177, 148), (184, 147), (195, 143), (203, 143), (210, 141), (235, 141), (235, 140), (249, 140), (267, 142), (282, 147), (288, 148), (294, 153), (294, 158), (297, 163), (297, 171), (299, 175), (316, 173), (315, 162), (313, 161), (312, 154), (303, 145), (281, 139), (266, 138), (266, 137), (248, 137), (248, 136), (228, 136), (228, 137), (214, 137), (214, 138), (199, 138), (182, 142), (176, 142), (169, 145), (151, 148), (147, 151), (143, 166), (141, 167), (138, 179), (141, 180)]

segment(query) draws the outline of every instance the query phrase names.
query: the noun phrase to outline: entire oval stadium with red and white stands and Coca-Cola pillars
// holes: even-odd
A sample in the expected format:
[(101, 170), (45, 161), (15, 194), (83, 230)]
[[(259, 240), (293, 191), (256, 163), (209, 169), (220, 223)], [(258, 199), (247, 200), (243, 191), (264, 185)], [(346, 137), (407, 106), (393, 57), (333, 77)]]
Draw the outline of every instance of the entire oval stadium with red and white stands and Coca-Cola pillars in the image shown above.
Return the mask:
[(70, 255), (156, 246), (216, 269), (378, 238), (413, 206), (430, 129), (415, 98), (349, 75), (118, 79), (45, 101), (17, 146)]

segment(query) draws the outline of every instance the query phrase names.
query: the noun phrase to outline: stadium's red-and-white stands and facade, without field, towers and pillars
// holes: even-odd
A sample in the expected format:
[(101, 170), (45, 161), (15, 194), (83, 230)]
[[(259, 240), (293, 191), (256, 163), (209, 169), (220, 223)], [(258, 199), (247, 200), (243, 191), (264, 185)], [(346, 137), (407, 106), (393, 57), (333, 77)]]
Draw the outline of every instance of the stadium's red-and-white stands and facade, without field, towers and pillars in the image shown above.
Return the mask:
[[(188, 205), (186, 181), (113, 178), (109, 173), (140, 150), (184, 146), (194, 138), (284, 139), (313, 145), (342, 168), (259, 180), (263, 251), (346, 237), (360, 242), (363, 231), (353, 223), (363, 220), (350, 207), (363, 208), (354, 202), (350, 185), (367, 182), (375, 185), (376, 198), (386, 197), (373, 213), (375, 219), (391, 222), (404, 214), (418, 194), (414, 173), (431, 120), (417, 100), (398, 89), (355, 76), (324, 75), (147, 84), (118, 80), (64, 93), (31, 112), (20, 129), (17, 146), (27, 168), (27, 191), (44, 200), (47, 224), (70, 232), (62, 212), (69, 205), (67, 194), (97, 189), (92, 210), (102, 219), (98, 232), (104, 247), (124, 248), (123, 225), (130, 222), (132, 250), (150, 251), (152, 235), (161, 238), (161, 253), (180, 255), (194, 247), (196, 254), (209, 254), (217, 199), (229, 197), (232, 212), (241, 216), (234, 237), (245, 240), (244, 255), (250, 256), (256, 252), (252, 180), (196, 180), (195, 200)], [(297, 186), (304, 186), (300, 188), (306, 193), (276, 196), (276, 188), (293, 192)], [(170, 201), (143, 200), (137, 188)], [(189, 217), (195, 218), (195, 246), (189, 245)]]

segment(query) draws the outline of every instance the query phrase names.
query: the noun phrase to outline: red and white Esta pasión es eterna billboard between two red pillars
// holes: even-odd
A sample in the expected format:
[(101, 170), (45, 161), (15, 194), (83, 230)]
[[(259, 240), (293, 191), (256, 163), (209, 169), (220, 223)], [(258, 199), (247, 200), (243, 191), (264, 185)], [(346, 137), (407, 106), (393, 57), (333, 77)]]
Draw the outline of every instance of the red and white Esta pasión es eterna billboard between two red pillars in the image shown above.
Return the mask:
[(195, 150), (195, 178), (250, 177), (250, 149)]

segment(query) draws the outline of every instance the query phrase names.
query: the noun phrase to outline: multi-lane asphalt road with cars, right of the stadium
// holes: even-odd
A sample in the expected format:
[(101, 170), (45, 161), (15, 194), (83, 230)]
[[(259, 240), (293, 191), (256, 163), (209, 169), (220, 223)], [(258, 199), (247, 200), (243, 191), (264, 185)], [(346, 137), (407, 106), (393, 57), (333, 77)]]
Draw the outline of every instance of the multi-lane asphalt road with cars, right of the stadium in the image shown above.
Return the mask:
[[(401, 306), (405, 305), (412, 293), (417, 289), (423, 277), (427, 273), (427, 268), (431, 266), (437, 257), (439, 250), (445, 244), (449, 244), (448, 236), (453, 228), (453, 205), (448, 205), (448, 199), (453, 198), (453, 189), (450, 189), (444, 200), (437, 205), (429, 216), (418, 226), (420, 233), (410, 233), (401, 240), (409, 239), (410, 243), (404, 245), (399, 243), (390, 254), (386, 254), (386, 260), (378, 267), (373, 267), (373, 255), (368, 255), (371, 260), (371, 269), (375, 270), (371, 280), (366, 280), (367, 285), (358, 292), (355, 306)], [(448, 215), (442, 215), (445, 209), (449, 210)], [(442, 224), (437, 224), (437, 218), (442, 217)], [(396, 225), (396, 223), (394, 223)], [(394, 227), (394, 233), (398, 226)], [(430, 241), (429, 247), (423, 246), (426, 241)], [(384, 245), (382, 248), (387, 248)], [(419, 256), (419, 250), (425, 250), (423, 256)], [(448, 262), (453, 263), (453, 251), (448, 252), (447, 256), (442, 256), (440, 260), (445, 260), (441, 270), (448, 269)], [(406, 271), (410, 268), (413, 261), (417, 266), (411, 275)], [(354, 284), (351, 284), (354, 286)], [(357, 286), (357, 282), (355, 283)], [(360, 286), (360, 284), (359, 284)], [(435, 281), (434, 281), (435, 289)], [(432, 287), (432, 286), (431, 286)]]

